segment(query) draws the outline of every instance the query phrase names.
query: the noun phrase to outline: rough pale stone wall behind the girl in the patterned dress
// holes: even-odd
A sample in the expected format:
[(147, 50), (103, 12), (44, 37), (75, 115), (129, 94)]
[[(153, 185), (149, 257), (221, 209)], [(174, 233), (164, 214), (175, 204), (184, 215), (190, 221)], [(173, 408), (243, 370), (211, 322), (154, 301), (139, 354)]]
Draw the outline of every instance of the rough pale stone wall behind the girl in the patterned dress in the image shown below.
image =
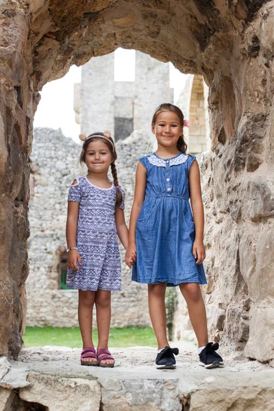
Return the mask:
[[(149, 136), (135, 132), (116, 143), (119, 182), (126, 191), (125, 217), (134, 195), (134, 175), (138, 158), (149, 148)], [(29, 204), (29, 277), (27, 279), (27, 325), (72, 327), (78, 325), (77, 290), (60, 286), (60, 260), (66, 249), (66, 209), (69, 186), (78, 175), (86, 174), (79, 166), (81, 145), (63, 136), (60, 130), (34, 130), (31, 155), (34, 195)], [(110, 175), (110, 178), (111, 175)], [(121, 246), (122, 290), (112, 292), (112, 327), (150, 325), (147, 286), (131, 281), (131, 272), (123, 263)], [(96, 317), (94, 315), (94, 325)]]

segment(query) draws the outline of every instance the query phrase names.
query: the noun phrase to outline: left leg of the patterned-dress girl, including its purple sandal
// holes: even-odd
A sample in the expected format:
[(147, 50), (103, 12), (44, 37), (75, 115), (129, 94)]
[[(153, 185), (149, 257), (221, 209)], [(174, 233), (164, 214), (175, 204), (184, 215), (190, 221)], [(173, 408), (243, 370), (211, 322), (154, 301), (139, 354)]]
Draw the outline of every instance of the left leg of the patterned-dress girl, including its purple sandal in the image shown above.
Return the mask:
[[(95, 291), (79, 290), (78, 320), (83, 340), (83, 349), (93, 347), (92, 342), (92, 311), (95, 303)], [(96, 362), (96, 358), (82, 358), (82, 362)]]

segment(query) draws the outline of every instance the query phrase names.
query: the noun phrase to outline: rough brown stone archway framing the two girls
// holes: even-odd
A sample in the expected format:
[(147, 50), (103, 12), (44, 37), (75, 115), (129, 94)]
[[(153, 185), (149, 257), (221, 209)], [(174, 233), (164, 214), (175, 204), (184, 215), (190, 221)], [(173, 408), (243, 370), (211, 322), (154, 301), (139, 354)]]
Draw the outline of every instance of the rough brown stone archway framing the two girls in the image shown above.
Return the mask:
[[(171, 61), (185, 73), (203, 75), (210, 86), (212, 152), (203, 164), (206, 244), (212, 256), (207, 290), (210, 321), (217, 330), (219, 316), (225, 316), (223, 343), (238, 347), (240, 342), (242, 348), (241, 329), (235, 332), (233, 324), (240, 328), (247, 321), (245, 355), (264, 361), (273, 358), (274, 307), (268, 273), (274, 256), (265, 251), (274, 248), (273, 5), (273, 0), (2, 1), (0, 354), (10, 352), (16, 358), (22, 345), (28, 155), (38, 90), (62, 77), (71, 64), (124, 47)], [(262, 341), (264, 314), (269, 321)]]

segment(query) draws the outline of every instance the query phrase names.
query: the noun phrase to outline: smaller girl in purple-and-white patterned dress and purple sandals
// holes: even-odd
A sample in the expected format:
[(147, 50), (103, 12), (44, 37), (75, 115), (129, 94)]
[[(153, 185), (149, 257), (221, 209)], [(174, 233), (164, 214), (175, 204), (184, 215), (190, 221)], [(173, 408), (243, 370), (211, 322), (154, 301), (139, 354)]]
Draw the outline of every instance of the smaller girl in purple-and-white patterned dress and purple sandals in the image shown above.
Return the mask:
[[(117, 154), (110, 132), (94, 133), (84, 141), (80, 162), (88, 175), (73, 180), (69, 190), (66, 241), (67, 288), (79, 290), (78, 319), (83, 340), (82, 365), (113, 367), (108, 351), (110, 299), (121, 290), (121, 259), (117, 235), (127, 247), (125, 192), (119, 186)], [(113, 182), (108, 179), (111, 167)], [(92, 342), (92, 310), (96, 306), (98, 346)]]

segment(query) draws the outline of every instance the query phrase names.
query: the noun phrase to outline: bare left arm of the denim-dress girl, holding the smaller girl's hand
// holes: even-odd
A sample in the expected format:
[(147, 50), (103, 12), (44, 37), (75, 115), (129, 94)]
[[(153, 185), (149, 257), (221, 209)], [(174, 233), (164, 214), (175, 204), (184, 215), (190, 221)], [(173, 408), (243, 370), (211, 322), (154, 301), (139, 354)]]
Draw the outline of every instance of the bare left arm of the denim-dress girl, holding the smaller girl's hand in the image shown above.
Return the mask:
[(136, 224), (137, 219), (142, 208), (142, 203), (145, 200), (145, 189), (147, 186), (147, 171), (145, 166), (141, 162), (138, 162), (136, 168), (136, 180), (135, 180), (135, 191), (134, 191), (134, 201), (132, 204), (132, 212), (129, 219), (129, 242), (127, 246), (127, 252), (125, 253), (125, 263), (132, 266), (132, 255), (136, 255)]

